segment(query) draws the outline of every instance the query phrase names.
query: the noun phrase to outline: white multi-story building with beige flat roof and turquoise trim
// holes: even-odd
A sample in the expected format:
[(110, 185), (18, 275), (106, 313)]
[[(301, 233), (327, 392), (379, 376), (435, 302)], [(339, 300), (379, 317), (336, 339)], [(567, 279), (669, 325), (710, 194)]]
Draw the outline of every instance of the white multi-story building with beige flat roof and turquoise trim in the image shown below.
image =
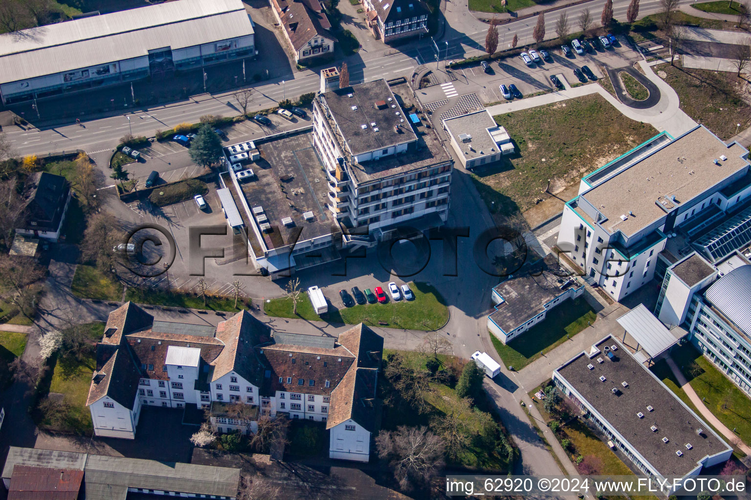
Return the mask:
[[(685, 255), (684, 234), (694, 238), (744, 206), (751, 195), (748, 153), (701, 125), (676, 139), (660, 133), (582, 179), (563, 208), (558, 247), (587, 280), (620, 300), (652, 280), (659, 253), (667, 249), (670, 263)], [(710, 235), (707, 251), (727, 255), (729, 246), (717, 241), (733, 230)]]

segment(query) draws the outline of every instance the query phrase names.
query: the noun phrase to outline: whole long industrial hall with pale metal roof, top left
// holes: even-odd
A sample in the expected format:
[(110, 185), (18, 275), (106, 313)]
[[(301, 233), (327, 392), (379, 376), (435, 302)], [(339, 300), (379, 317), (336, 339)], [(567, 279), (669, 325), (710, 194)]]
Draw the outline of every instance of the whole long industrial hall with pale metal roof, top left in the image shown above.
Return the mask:
[(255, 55), (241, 0), (177, 0), (0, 34), (5, 104)]

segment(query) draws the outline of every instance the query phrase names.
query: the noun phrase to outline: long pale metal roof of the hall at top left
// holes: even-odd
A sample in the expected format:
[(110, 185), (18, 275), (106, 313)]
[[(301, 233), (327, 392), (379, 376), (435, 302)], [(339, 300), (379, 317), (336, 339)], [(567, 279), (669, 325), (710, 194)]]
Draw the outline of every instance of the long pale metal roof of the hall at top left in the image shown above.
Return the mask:
[(241, 0), (177, 0), (0, 34), (0, 83), (253, 33)]

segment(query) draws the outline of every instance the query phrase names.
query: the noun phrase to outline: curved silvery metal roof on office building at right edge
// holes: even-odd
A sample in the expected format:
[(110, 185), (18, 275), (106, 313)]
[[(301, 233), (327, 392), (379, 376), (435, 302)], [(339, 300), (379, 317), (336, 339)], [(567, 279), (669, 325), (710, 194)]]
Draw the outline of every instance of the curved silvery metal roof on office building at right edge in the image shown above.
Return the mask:
[(704, 297), (738, 328), (751, 335), (751, 264), (735, 268), (712, 283)]

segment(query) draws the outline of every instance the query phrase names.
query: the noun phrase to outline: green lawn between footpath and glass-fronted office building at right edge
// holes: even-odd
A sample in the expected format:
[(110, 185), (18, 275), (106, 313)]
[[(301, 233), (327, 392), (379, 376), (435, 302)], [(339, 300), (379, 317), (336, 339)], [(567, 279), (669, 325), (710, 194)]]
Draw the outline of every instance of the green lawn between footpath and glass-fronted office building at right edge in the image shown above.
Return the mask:
[[(680, 367), (698, 397), (705, 398), (704, 405), (728, 429), (735, 429), (745, 443), (751, 442), (751, 401), (740, 388), (720, 372), (711, 361), (704, 358), (691, 344), (676, 347), (671, 357)], [(696, 364), (698, 369), (692, 370)]]

